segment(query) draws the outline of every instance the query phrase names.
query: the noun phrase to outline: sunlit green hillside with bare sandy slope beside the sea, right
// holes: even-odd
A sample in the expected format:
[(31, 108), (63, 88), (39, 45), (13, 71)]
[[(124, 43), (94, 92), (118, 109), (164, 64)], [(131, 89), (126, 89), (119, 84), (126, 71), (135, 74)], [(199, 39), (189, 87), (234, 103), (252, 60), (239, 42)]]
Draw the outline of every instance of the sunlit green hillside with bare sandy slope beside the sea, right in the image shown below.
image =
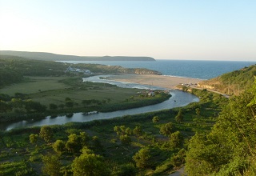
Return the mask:
[(256, 76), (256, 65), (222, 74), (217, 78), (200, 82), (198, 86), (209, 90), (218, 90), (224, 94), (240, 94), (253, 85), (254, 76)]

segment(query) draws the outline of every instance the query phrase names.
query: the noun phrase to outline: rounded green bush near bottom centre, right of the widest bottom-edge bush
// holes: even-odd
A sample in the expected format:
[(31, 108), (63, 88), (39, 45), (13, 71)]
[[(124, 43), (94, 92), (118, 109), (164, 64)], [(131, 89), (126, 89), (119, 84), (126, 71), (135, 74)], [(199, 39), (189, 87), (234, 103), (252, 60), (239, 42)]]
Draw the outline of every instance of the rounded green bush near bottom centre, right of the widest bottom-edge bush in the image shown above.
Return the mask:
[(138, 150), (138, 152), (134, 154), (133, 159), (139, 169), (147, 169), (152, 166), (150, 150), (148, 148)]

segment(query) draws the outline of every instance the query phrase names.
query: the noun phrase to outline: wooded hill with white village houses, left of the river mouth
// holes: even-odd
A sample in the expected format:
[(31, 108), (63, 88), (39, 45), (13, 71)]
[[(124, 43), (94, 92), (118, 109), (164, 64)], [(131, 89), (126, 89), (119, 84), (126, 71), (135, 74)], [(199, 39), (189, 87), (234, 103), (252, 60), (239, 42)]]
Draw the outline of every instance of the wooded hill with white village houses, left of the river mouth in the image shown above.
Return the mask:
[(122, 66), (106, 66), (101, 64), (71, 64), (0, 55), (0, 87), (14, 82), (21, 82), (23, 76), (72, 76), (77, 74), (86, 74), (88, 76), (89, 74), (86, 71), (90, 75), (161, 74), (158, 71), (143, 68), (129, 69)]

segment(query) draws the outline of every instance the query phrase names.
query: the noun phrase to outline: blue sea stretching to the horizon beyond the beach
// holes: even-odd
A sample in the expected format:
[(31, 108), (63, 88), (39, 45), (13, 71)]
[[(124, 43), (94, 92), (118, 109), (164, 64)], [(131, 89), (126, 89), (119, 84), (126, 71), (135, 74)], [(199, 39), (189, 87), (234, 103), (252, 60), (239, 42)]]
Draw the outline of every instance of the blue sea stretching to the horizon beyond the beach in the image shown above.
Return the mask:
[(61, 61), (68, 63), (93, 63), (125, 68), (146, 68), (157, 70), (162, 75), (184, 78), (210, 79), (246, 66), (256, 61), (196, 61), (196, 60), (156, 60), (154, 61)]

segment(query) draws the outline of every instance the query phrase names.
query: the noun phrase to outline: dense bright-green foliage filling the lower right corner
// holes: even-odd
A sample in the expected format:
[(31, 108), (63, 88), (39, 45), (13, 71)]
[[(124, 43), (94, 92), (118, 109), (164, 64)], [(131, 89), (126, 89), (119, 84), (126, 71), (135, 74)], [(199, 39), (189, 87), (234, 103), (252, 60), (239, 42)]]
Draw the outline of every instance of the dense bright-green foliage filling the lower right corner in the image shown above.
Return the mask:
[(256, 85), (230, 98), (210, 133), (190, 139), (189, 175), (256, 175)]

